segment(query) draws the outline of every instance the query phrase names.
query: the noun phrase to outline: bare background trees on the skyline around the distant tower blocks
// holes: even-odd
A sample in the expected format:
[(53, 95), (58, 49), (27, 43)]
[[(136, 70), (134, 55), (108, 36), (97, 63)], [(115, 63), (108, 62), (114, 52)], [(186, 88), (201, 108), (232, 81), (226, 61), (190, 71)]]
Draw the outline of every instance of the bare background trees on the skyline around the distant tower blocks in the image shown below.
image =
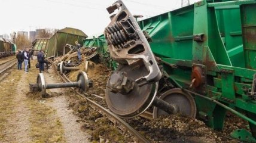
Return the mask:
[[(57, 32), (57, 29), (42, 29), (39, 30), (38, 34), (36, 35), (36, 38), (51, 38), (51, 36), (54, 35), (54, 33)], [(16, 33), (11, 34), (11, 39), (15, 41), (18, 49), (23, 49), (26, 47), (30, 47), (32, 45), (32, 42), (29, 41), (28, 37), (25, 35), (19, 35)]]

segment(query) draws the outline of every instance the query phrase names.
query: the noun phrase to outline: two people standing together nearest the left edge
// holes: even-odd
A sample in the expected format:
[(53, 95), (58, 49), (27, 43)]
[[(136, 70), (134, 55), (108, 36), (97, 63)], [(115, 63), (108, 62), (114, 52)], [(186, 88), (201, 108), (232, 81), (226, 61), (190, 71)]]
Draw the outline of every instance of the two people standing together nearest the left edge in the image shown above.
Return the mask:
[(18, 70), (22, 70), (22, 63), (24, 62), (25, 72), (28, 73), (29, 69), (31, 68), (30, 60), (33, 60), (33, 51), (29, 51), (29, 48), (25, 48), (23, 51), (18, 49), (16, 58), (18, 60)]

